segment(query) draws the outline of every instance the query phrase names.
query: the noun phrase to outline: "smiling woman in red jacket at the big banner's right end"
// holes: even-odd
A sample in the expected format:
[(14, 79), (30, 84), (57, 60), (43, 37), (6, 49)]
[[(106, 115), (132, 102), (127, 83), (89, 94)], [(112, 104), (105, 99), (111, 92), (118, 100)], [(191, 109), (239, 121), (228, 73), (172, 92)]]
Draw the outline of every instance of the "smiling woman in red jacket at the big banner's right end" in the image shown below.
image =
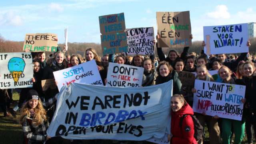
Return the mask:
[[(171, 99), (171, 136), (168, 136), (170, 144), (197, 144), (194, 138), (194, 122), (190, 115), (193, 109), (188, 105), (182, 94), (174, 94)], [(180, 128), (180, 118), (188, 114), (182, 122)], [(190, 114), (190, 115), (189, 115)]]

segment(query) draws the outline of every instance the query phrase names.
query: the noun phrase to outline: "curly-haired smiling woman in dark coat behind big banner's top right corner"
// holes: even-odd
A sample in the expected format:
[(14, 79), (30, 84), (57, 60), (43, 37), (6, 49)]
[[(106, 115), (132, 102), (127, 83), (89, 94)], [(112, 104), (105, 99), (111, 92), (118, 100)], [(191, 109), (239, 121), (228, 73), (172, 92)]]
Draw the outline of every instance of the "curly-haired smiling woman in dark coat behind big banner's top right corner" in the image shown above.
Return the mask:
[(156, 77), (156, 84), (162, 84), (164, 82), (168, 82), (169, 80), (173, 80), (173, 92), (172, 94), (182, 94), (182, 84), (180, 82), (178, 73), (173, 70), (172, 66), (169, 62), (162, 61), (158, 64), (156, 68), (158, 76)]

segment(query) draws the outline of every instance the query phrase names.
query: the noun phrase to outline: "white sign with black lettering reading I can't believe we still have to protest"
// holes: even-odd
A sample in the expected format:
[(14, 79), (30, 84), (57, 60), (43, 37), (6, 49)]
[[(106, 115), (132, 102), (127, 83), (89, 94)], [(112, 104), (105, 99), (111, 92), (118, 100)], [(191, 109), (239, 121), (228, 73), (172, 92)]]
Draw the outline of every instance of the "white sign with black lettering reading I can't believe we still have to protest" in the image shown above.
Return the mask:
[(123, 56), (152, 55), (154, 49), (154, 28), (132, 28), (126, 30), (128, 52)]

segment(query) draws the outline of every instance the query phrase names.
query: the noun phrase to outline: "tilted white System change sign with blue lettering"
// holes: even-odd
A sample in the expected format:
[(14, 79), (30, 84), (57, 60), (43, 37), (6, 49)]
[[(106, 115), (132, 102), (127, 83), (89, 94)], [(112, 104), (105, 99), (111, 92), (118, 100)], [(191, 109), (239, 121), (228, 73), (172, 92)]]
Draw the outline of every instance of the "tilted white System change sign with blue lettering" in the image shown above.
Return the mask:
[(63, 85), (68, 85), (71, 82), (103, 86), (95, 60), (90, 60), (64, 70), (58, 70), (53, 72), (53, 74), (55, 80), (58, 81), (58, 90)]

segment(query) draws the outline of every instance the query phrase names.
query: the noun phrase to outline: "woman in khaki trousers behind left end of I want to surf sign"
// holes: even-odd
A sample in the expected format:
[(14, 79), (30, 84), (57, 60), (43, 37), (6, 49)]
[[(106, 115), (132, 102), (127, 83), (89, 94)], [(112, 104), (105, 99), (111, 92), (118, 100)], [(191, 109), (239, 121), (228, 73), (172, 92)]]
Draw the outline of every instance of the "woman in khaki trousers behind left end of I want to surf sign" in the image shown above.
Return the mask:
[[(215, 82), (212, 76), (208, 73), (208, 70), (204, 64), (200, 64), (196, 67), (197, 80), (205, 80), (210, 82)], [(192, 93), (195, 93), (197, 90), (192, 88)], [(195, 112), (196, 118), (199, 120), (200, 124), (204, 127), (205, 123), (207, 124), (210, 144), (220, 144), (220, 128), (218, 126), (218, 116), (207, 116), (205, 113), (199, 114)], [(203, 144), (202, 140), (198, 141), (198, 144)]]

